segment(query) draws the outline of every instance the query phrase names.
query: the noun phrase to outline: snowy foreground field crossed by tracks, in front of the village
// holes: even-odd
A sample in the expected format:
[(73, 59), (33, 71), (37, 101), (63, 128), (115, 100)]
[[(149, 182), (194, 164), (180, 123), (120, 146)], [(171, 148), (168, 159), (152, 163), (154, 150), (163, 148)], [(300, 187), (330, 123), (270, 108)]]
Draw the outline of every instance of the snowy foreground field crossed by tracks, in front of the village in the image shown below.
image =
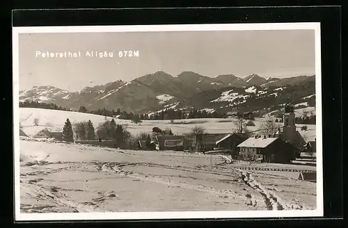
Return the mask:
[(315, 209), (315, 184), (224, 161), (22, 138), (21, 212)]

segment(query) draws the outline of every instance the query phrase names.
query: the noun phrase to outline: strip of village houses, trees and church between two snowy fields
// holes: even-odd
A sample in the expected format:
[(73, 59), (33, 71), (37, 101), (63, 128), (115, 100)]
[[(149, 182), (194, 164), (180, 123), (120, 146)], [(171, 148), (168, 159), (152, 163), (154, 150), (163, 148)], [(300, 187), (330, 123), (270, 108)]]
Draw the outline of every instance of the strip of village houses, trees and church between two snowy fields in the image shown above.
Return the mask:
[[(243, 116), (237, 116), (241, 128), (242, 124), (245, 124), (244, 118), (248, 119), (247, 115), (252, 115), (252, 113), (243, 114)], [(248, 161), (249, 163), (315, 165), (316, 141), (306, 141), (297, 131), (292, 104), (285, 105), (281, 121), (284, 123), (283, 127), (269, 125), (269, 129), (264, 127), (264, 129), (253, 132), (207, 133), (204, 132), (204, 129), (196, 126), (192, 129), (191, 134), (174, 135), (171, 129), (168, 132), (168, 129), (162, 130), (159, 127), (153, 127), (152, 135), (135, 139), (135, 145), (131, 149), (219, 154), (230, 157), (231, 161)], [(20, 136), (26, 136), (22, 129), (20, 129)], [(120, 148), (120, 143), (115, 137), (110, 137), (107, 134), (104, 136), (102, 134), (102, 137), (97, 136), (97, 138), (93, 136), (89, 140), (79, 139), (78, 136), (75, 136), (74, 140), (66, 140), (63, 131), (42, 129), (35, 133), (33, 138), (52, 138), (83, 145)]]

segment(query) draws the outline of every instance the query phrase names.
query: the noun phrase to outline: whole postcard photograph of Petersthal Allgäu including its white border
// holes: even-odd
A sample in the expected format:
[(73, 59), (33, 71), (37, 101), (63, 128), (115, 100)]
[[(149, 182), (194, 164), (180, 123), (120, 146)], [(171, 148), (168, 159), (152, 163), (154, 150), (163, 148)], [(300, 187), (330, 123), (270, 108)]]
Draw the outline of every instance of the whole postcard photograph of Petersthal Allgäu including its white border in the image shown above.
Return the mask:
[(319, 23), (13, 28), (16, 220), (323, 215)]

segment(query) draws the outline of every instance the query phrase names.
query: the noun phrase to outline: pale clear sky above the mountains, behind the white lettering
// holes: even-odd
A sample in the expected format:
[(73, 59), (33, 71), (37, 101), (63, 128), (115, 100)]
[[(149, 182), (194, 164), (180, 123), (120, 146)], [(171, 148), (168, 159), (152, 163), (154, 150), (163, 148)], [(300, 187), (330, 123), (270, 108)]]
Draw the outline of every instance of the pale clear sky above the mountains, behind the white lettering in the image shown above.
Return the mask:
[[(58, 57), (43, 57), (42, 53)], [(60, 58), (64, 52), (81, 57)], [(93, 58), (86, 51), (111, 53)], [(118, 51), (139, 56), (119, 57)], [(128, 52), (129, 53), (129, 52)], [(55, 86), (77, 91), (163, 71), (204, 76), (315, 74), (314, 30), (164, 31), (19, 34), (19, 90)]]

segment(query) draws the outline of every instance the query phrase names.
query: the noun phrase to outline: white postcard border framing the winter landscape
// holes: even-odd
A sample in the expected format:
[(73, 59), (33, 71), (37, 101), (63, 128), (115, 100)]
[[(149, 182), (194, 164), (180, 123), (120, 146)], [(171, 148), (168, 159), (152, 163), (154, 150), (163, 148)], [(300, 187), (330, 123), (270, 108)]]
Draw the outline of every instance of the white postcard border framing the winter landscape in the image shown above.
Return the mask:
[(173, 24), (136, 26), (28, 26), (13, 27), (13, 142), (15, 159), (15, 220), (145, 220), (195, 218), (289, 218), (324, 215), (322, 143), (317, 143), (317, 209), (308, 211), (165, 211), (105, 213), (20, 213), (19, 184), (19, 33), (97, 33), (148, 31), (247, 31), (294, 30), (315, 31), (316, 138), (322, 142), (322, 72), (320, 23), (258, 23), (258, 24)]

